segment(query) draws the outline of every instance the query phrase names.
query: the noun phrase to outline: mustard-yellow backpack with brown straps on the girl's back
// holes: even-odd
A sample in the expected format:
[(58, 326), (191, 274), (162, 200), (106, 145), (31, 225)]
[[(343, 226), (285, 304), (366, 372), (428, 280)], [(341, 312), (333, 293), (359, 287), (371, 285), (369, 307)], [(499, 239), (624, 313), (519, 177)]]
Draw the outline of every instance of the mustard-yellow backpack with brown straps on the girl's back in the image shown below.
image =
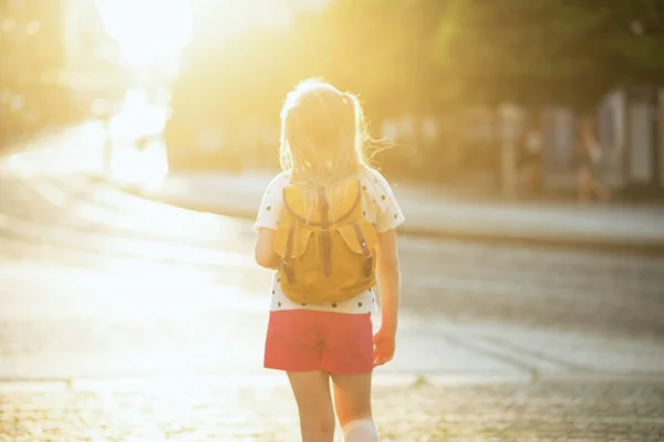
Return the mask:
[(318, 190), (311, 206), (307, 188), (283, 189), (276, 252), (281, 290), (295, 303), (342, 302), (375, 285), (377, 234), (364, 213), (361, 182), (333, 186), (332, 201), (325, 193)]

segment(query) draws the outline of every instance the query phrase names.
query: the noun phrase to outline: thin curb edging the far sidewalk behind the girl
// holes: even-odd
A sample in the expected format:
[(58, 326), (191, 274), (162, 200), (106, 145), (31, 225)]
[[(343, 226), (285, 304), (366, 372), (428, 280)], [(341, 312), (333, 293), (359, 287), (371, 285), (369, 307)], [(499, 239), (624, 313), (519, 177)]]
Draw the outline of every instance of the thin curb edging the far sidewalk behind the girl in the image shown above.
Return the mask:
[[(136, 197), (146, 200), (160, 202), (168, 206), (178, 207), (185, 210), (212, 213), (221, 217), (239, 218), (253, 221), (256, 218), (255, 211), (248, 211), (242, 208), (221, 208), (218, 206), (208, 206), (195, 202), (176, 201), (169, 198), (158, 198), (123, 187), (115, 187), (117, 190), (132, 193)], [(629, 239), (605, 239), (589, 236), (574, 236), (573, 234), (518, 234), (510, 232), (491, 232), (478, 229), (459, 229), (458, 227), (449, 228), (429, 228), (423, 225), (404, 224), (398, 229), (400, 233), (405, 236), (429, 238), (442, 240), (455, 240), (476, 243), (490, 243), (496, 245), (522, 245), (540, 249), (564, 249), (577, 251), (594, 251), (594, 252), (616, 252), (632, 254), (649, 254), (664, 255), (664, 240), (639, 241)]]

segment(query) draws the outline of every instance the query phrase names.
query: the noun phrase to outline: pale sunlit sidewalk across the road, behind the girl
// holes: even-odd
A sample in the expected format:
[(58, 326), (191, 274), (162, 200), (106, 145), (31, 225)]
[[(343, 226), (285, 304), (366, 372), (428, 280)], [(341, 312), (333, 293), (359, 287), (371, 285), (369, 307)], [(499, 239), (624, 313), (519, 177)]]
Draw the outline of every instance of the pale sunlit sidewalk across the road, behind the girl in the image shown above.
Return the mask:
[[(271, 175), (170, 175), (142, 192), (188, 209), (253, 219)], [(404, 234), (664, 251), (664, 208), (468, 201), (433, 188), (393, 183)]]

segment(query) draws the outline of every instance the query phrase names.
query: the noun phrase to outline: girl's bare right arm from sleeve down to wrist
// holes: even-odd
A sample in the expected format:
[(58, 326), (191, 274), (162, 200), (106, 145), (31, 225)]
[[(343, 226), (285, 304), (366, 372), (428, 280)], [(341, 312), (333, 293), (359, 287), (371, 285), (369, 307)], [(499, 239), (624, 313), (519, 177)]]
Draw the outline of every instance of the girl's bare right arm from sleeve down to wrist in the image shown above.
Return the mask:
[(394, 230), (378, 234), (376, 254), (382, 312), (381, 330), (394, 336), (398, 325), (401, 302), (401, 271)]

